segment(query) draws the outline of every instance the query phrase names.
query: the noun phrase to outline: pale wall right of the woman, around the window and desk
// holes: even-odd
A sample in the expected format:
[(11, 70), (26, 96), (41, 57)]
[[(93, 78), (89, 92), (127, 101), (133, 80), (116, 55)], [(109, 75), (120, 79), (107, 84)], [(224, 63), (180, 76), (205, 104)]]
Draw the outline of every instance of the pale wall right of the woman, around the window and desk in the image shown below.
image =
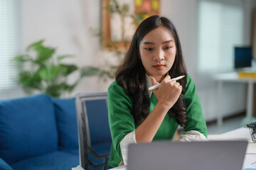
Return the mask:
[[(254, 0), (245, 0), (245, 32), (244, 42), (250, 44), (251, 38), (251, 13), (255, 6)], [(207, 120), (213, 120), (218, 115), (218, 96), (217, 84), (211, 77), (206, 77), (204, 84), (198, 84), (198, 72), (196, 72), (196, 61), (198, 49), (198, 0), (163, 0), (161, 1), (162, 15), (167, 16), (176, 26), (183, 56), (185, 58), (188, 74), (191, 75), (197, 86), (197, 92), (201, 98), (201, 105), (204, 116)], [(223, 112), (224, 115), (240, 113), (245, 111), (246, 104), (246, 86), (244, 84), (224, 84)]]

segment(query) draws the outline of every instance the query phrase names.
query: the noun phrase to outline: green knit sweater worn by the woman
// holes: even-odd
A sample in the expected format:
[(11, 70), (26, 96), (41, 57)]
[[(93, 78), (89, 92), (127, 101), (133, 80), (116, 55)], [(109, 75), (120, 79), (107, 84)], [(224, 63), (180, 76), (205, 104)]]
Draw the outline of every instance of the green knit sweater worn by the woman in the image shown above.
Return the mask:
[[(196, 94), (196, 86), (188, 75), (184, 99), (188, 113), (188, 120), (184, 127), (185, 132), (196, 130), (207, 137), (206, 121), (203, 118), (200, 99), (198, 94)], [(135, 125), (132, 116), (132, 96), (128, 96), (122, 86), (119, 86), (116, 81), (114, 81), (108, 89), (107, 101), (110, 131), (112, 135), (109, 165), (116, 167), (122, 162), (120, 142), (125, 135), (134, 131), (137, 125)], [(150, 101), (149, 114), (158, 102), (154, 93), (152, 93)], [(176, 120), (166, 114), (153, 140), (172, 140), (177, 128), (178, 123)]]

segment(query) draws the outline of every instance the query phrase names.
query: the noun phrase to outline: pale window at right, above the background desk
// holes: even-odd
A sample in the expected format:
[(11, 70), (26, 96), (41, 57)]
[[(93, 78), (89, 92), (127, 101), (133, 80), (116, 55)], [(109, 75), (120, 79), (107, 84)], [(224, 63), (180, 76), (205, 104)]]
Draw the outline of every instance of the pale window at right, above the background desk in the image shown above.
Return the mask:
[(234, 47), (243, 45), (243, 1), (200, 0), (198, 6), (198, 72), (229, 72)]

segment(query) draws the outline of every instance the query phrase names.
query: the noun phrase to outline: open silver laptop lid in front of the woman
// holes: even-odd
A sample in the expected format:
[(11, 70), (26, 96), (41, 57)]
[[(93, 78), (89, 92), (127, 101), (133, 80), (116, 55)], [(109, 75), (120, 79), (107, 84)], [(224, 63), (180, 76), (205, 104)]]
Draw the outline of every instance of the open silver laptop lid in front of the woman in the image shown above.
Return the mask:
[(127, 170), (241, 170), (246, 147), (241, 140), (132, 144)]

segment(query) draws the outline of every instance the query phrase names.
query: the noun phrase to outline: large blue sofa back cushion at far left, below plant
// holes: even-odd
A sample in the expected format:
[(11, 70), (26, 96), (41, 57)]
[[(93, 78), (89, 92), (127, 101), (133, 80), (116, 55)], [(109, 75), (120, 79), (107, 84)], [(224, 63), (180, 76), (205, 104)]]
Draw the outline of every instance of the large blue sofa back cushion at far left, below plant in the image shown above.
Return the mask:
[(58, 149), (53, 103), (45, 94), (0, 101), (0, 157), (8, 164)]

